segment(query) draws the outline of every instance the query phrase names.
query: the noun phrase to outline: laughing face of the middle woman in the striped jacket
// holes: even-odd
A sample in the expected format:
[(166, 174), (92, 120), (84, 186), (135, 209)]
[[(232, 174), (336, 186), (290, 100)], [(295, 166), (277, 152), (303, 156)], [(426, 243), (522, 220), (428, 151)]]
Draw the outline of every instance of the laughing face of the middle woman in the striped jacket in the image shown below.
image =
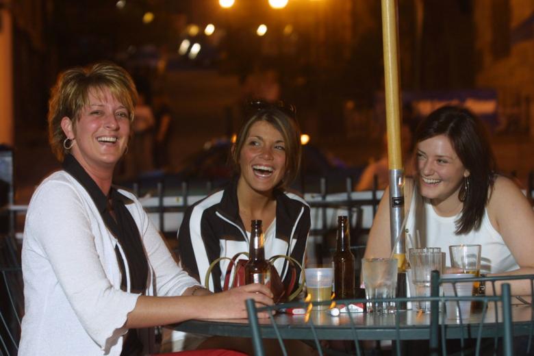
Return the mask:
[(240, 186), (260, 194), (271, 194), (285, 175), (285, 142), (282, 134), (266, 121), (249, 129), (239, 155)]

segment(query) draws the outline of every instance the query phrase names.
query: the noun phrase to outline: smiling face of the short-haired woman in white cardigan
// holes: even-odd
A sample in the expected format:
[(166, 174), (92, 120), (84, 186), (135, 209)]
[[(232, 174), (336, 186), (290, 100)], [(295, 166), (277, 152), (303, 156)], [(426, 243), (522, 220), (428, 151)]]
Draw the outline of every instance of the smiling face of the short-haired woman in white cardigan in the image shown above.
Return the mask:
[(125, 105), (109, 89), (90, 89), (88, 103), (75, 124), (64, 117), (61, 126), (66, 137), (73, 140), (71, 153), (90, 175), (112, 175), (126, 150), (130, 122)]

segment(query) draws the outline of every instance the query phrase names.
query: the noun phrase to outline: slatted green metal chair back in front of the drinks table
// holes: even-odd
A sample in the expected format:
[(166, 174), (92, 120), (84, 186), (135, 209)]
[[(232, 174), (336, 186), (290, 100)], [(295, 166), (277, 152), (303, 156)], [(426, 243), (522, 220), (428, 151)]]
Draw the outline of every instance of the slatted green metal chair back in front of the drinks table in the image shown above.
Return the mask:
[[(438, 281), (439, 275), (437, 276)], [(444, 280), (445, 281), (445, 280)], [(450, 281), (450, 280), (446, 280)], [(463, 280), (465, 281), (465, 280)], [(439, 284), (438, 284), (439, 287)], [(511, 318), (511, 296), (508, 284), (502, 285), (503, 292), (498, 296), (435, 296), (409, 297), (409, 298), (374, 298), (374, 299), (351, 299), (337, 301), (337, 307), (341, 305), (366, 305), (366, 303), (393, 302), (395, 307), (391, 314), (370, 314), (366, 312), (348, 311), (339, 317), (331, 316), (331, 311), (326, 309), (320, 312), (311, 312), (311, 317), (275, 315), (290, 308), (301, 308), (309, 316), (311, 305), (309, 303), (285, 303), (268, 307), (256, 307), (253, 300), (246, 301), (249, 314), (249, 324), (253, 339), (255, 355), (265, 355), (262, 338), (276, 338), (280, 344), (283, 355), (285, 351), (283, 340), (309, 339), (311, 344), (323, 355), (326, 350), (322, 349), (320, 340), (349, 340), (351, 353), (363, 355), (362, 340), (392, 340), (393, 355), (409, 355), (411, 353), (409, 341), (418, 342), (418, 353), (425, 355), (446, 355), (457, 350), (447, 348), (448, 340), (457, 339), (461, 344), (460, 354), (463, 354), (464, 346), (476, 344), (475, 355), (482, 355), (485, 349), (481, 347), (482, 339), (489, 335), (494, 338), (494, 349), (498, 354), (513, 355), (513, 335)], [(417, 301), (431, 304), (430, 314), (418, 314), (416, 310), (401, 310), (400, 306), (407, 302), (415, 305)], [(461, 301), (479, 302), (483, 304), (483, 312), (476, 318), (461, 319), (450, 322), (446, 319), (440, 305), (447, 302), (459, 303)], [(491, 303), (491, 308), (488, 308)], [(329, 302), (326, 304), (328, 308)], [(259, 320), (257, 314), (266, 312), (268, 319)], [(321, 316), (318, 318), (318, 314)], [(324, 315), (323, 315), (324, 314)], [(334, 313), (335, 315), (339, 313)], [(338, 318), (338, 321), (335, 321)], [(337, 322), (337, 324), (336, 324)], [(469, 342), (469, 344), (468, 344)], [(465, 345), (464, 345), (465, 344)], [(345, 344), (346, 346), (346, 344)], [(471, 347), (471, 346), (470, 346)], [(427, 348), (427, 349), (425, 349)], [(466, 353), (467, 355), (467, 353)]]

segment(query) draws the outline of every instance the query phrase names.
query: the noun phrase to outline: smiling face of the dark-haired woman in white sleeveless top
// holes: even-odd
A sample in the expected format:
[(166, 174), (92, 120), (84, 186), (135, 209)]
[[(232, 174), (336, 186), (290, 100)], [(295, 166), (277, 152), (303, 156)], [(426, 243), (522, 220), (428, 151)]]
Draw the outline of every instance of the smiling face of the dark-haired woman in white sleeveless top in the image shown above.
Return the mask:
[(417, 160), (421, 195), (449, 211), (459, 206), (458, 192), (469, 171), (448, 137), (438, 135), (418, 142)]

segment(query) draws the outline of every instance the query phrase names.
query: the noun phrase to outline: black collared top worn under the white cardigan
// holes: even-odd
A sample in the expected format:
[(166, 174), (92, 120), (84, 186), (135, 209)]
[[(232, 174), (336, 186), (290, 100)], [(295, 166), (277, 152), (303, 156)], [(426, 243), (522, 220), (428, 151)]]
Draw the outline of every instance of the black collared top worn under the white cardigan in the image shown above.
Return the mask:
[[(73, 176), (89, 193), (94, 205), (97, 206), (104, 220), (105, 226), (123, 248), (128, 261), (131, 292), (144, 293), (144, 290), (147, 288), (149, 264), (147, 262), (147, 256), (144, 253), (144, 247), (136, 222), (125, 206), (126, 204), (133, 203), (133, 201), (127, 198), (127, 196), (120, 194), (113, 187), (110, 189), (110, 194), (105, 196), (99, 186), (97, 186), (97, 183), (92, 180), (73, 155), (66, 155), (63, 162), (63, 169)], [(126, 291), (125, 262), (123, 261), (122, 255), (120, 255), (118, 246), (115, 247), (115, 253), (122, 274), (120, 289)], [(139, 355), (140, 352), (142, 352), (142, 343), (135, 330), (130, 329), (123, 344), (123, 353), (120, 355)]]

